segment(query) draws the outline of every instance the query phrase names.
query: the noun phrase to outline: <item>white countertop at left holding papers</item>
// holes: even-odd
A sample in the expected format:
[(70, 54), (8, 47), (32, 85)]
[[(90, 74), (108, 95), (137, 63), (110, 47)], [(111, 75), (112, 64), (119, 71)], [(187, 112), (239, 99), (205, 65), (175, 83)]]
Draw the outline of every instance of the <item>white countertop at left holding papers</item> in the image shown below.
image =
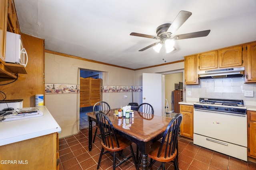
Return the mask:
[(0, 122), (0, 146), (61, 131), (60, 126), (45, 106), (32, 108), (38, 108), (44, 115)]

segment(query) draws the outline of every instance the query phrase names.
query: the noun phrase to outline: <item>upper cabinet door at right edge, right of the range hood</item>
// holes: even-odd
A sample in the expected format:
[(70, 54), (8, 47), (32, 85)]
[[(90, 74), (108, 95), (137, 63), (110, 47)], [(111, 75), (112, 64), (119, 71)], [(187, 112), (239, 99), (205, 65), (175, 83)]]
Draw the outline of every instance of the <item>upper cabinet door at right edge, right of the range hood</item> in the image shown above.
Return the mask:
[(256, 43), (247, 45), (245, 82), (256, 82)]

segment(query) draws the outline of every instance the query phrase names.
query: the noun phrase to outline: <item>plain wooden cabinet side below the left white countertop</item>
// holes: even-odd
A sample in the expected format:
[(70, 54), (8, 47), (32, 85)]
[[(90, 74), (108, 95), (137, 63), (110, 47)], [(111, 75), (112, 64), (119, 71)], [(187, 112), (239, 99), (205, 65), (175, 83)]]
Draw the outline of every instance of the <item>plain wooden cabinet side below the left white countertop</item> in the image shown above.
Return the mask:
[(0, 146), (1, 170), (58, 170), (58, 133)]

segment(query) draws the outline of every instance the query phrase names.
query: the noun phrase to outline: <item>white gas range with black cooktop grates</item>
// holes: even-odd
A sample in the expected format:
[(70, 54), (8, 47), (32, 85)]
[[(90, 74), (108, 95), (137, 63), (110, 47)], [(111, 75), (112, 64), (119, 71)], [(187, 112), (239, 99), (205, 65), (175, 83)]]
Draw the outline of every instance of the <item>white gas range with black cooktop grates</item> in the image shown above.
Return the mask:
[(200, 98), (194, 103), (194, 144), (247, 161), (243, 100)]

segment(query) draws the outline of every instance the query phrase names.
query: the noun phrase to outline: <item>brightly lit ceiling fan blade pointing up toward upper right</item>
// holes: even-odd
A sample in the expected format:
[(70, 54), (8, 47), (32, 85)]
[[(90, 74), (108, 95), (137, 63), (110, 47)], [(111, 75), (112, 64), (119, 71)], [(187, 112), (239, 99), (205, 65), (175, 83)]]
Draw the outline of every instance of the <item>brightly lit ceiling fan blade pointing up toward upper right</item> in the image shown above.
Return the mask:
[(172, 22), (172, 25), (169, 27), (167, 32), (171, 32), (172, 34), (174, 34), (179, 28), (180, 26), (186, 21), (188, 20), (188, 18), (192, 15), (191, 12), (188, 11), (180, 11), (179, 14), (176, 16), (176, 18), (174, 19), (174, 21)]

